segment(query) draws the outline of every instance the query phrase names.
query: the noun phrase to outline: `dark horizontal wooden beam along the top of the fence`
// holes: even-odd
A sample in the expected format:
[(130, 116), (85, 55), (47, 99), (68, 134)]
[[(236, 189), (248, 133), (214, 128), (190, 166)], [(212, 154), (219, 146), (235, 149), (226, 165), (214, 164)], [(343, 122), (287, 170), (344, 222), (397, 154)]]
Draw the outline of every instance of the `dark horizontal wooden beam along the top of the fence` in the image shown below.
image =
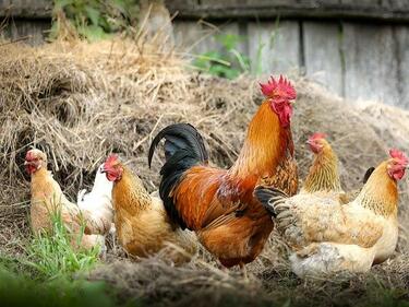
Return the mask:
[(200, 4), (194, 1), (167, 0), (166, 3), (170, 12), (178, 11), (180, 17), (187, 19), (280, 16), (409, 22), (409, 1), (407, 0), (201, 0)]

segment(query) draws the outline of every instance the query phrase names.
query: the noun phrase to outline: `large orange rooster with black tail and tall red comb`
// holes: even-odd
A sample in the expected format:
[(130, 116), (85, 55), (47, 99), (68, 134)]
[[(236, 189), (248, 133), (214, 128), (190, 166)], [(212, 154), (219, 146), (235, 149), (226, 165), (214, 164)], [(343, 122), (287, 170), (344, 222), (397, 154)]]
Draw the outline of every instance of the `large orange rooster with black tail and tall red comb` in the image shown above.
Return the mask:
[(273, 231), (268, 212), (253, 197), (264, 184), (297, 191), (298, 175), (290, 128), (296, 91), (282, 76), (261, 84), (265, 101), (250, 122), (244, 145), (230, 169), (208, 166), (203, 139), (194, 127), (171, 125), (165, 138), (166, 163), (160, 170), (160, 198), (172, 221), (194, 231), (202, 245), (226, 268), (252, 262)]

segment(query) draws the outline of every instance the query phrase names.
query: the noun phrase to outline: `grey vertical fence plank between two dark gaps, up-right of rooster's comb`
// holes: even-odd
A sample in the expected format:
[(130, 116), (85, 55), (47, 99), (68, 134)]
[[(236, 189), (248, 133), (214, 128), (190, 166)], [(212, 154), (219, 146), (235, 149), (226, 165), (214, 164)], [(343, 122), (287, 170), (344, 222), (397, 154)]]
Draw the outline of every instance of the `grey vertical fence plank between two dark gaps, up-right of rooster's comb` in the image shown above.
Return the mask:
[(342, 95), (340, 28), (337, 23), (303, 23), (306, 75)]

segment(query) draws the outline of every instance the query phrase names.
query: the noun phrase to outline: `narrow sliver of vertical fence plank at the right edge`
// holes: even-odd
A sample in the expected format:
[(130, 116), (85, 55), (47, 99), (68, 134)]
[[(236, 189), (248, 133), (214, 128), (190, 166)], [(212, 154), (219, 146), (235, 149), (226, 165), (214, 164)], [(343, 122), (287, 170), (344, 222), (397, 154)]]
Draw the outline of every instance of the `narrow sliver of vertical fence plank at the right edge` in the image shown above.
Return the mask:
[(396, 105), (409, 109), (409, 28), (406, 26), (396, 26), (394, 34), (398, 61), (398, 76), (396, 82), (400, 95), (400, 99), (396, 102)]

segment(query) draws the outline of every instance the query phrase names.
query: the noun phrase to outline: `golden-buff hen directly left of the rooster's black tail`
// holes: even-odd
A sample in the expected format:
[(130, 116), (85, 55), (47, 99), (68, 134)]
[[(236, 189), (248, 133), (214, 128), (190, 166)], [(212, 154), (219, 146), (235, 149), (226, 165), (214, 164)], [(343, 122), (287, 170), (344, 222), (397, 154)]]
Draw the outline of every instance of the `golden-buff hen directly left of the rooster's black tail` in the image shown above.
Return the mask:
[(146, 191), (117, 154), (107, 158), (103, 173), (113, 182), (115, 226), (120, 244), (130, 255), (147, 257), (172, 245), (177, 249), (170, 258), (173, 262), (184, 262), (196, 252), (194, 234), (171, 223), (163, 201)]

